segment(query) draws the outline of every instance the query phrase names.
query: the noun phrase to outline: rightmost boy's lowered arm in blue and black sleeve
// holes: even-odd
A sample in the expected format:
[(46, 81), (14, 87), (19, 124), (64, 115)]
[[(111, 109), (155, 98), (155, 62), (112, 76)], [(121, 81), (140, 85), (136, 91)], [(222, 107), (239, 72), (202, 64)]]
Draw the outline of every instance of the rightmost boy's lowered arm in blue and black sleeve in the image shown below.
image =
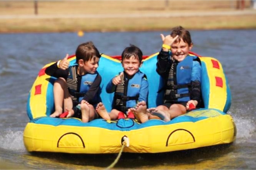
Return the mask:
[(191, 100), (200, 103), (201, 95), (201, 65), (198, 61), (193, 61), (191, 74)]

